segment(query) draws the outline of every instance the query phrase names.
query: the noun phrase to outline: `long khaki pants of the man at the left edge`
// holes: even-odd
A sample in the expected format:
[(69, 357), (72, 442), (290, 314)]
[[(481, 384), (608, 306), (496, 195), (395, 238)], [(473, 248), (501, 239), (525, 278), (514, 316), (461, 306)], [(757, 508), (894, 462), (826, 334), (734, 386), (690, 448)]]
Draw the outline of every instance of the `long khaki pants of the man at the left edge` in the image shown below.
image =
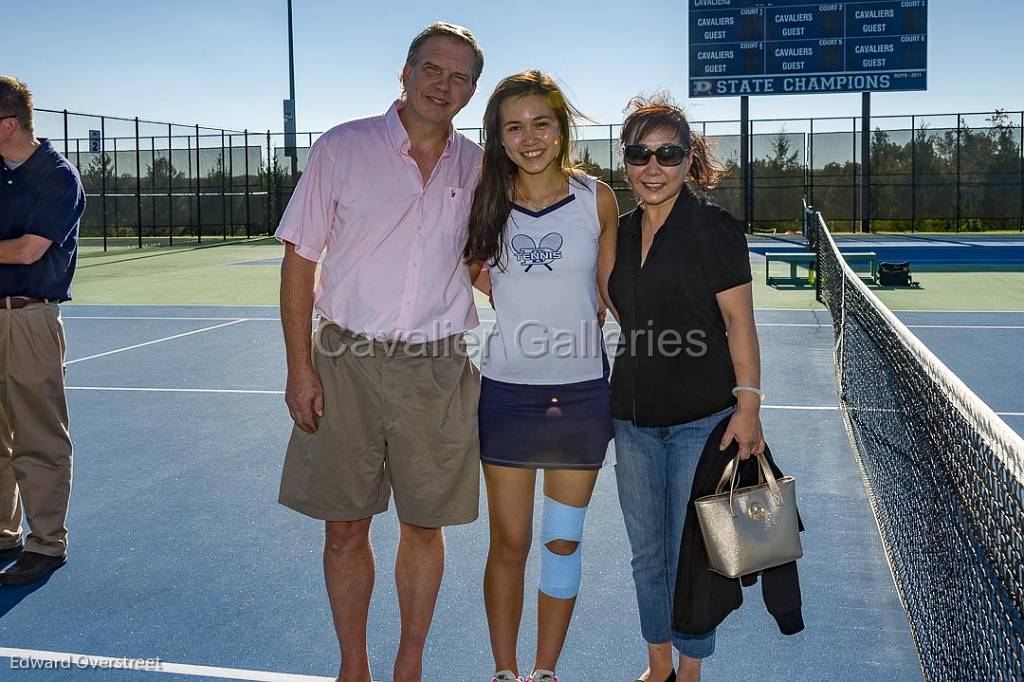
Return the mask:
[(72, 444), (65, 336), (55, 303), (0, 309), (0, 549), (59, 556), (68, 549)]

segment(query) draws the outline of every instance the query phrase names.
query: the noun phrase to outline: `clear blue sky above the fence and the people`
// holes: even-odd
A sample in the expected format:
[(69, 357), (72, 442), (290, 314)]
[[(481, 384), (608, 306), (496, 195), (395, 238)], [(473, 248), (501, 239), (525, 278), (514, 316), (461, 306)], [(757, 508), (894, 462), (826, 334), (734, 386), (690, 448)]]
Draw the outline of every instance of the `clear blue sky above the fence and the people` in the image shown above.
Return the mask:
[[(687, 85), (686, 0), (553, 2), (294, 0), (299, 130), (383, 112), (409, 41), (443, 18), (469, 27), (486, 67), (456, 120), (479, 124), (502, 77), (555, 75), (600, 123), (627, 100)], [(34, 0), (5, 3), (0, 73), (38, 106), (281, 130), (288, 96), (285, 0)], [(877, 93), (876, 114), (1024, 109), (1024, 0), (932, 0), (929, 90)], [(735, 119), (738, 97), (685, 102), (693, 120)], [(854, 116), (860, 96), (751, 98), (753, 118)]]

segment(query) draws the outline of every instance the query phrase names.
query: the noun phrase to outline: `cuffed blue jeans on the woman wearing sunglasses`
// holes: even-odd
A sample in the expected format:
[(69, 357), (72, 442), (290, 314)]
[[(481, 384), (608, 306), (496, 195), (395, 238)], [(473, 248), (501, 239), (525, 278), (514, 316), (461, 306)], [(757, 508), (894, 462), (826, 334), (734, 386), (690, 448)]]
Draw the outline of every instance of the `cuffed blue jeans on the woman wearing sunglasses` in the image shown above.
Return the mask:
[(614, 420), (615, 482), (633, 548), (640, 631), (649, 643), (671, 641), (691, 658), (707, 658), (715, 651), (715, 631), (694, 636), (672, 630), (679, 545), (697, 461), (708, 436), (732, 410), (677, 426)]

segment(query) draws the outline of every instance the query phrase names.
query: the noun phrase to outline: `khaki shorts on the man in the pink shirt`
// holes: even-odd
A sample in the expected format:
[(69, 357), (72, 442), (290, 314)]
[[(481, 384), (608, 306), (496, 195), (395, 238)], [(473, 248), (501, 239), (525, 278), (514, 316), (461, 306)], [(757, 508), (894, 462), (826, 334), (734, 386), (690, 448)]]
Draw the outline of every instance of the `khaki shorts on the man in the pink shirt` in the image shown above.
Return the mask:
[(479, 374), (462, 334), (425, 343), (371, 341), (321, 322), (313, 366), (324, 385), (315, 433), (297, 426), (281, 504), (355, 521), (386, 511), (439, 527), (479, 513)]

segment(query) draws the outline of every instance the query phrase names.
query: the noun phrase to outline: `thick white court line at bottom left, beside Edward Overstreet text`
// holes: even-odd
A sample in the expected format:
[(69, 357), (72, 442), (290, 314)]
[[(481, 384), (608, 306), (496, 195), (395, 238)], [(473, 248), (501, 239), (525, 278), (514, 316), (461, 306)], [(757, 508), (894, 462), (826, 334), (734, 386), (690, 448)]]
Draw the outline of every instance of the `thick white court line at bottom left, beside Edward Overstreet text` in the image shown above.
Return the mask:
[[(40, 651), (37, 649), (14, 649), (8, 647), (0, 647), (0, 657), (11, 659), (11, 670), (19, 670), (14, 667), (14, 659), (19, 662), (29, 659), (65, 664), (77, 670), (130, 670), (138, 673), (175, 673), (197, 677), (216, 677), (225, 680), (261, 680), (266, 682), (331, 682), (334, 680), (333, 677), (319, 677), (315, 675), (270, 673), (259, 670), (243, 670), (240, 668), (213, 668), (209, 666), (175, 664), (165, 660), (160, 660), (158, 668), (152, 665), (142, 666), (136, 663), (139, 660), (137, 658), (97, 656), (88, 653), (67, 653), (63, 651)], [(134, 667), (127, 667), (132, 664), (134, 664)], [(37, 670), (40, 668), (37, 668)], [(32, 668), (27, 666), (25, 670), (32, 670)]]

